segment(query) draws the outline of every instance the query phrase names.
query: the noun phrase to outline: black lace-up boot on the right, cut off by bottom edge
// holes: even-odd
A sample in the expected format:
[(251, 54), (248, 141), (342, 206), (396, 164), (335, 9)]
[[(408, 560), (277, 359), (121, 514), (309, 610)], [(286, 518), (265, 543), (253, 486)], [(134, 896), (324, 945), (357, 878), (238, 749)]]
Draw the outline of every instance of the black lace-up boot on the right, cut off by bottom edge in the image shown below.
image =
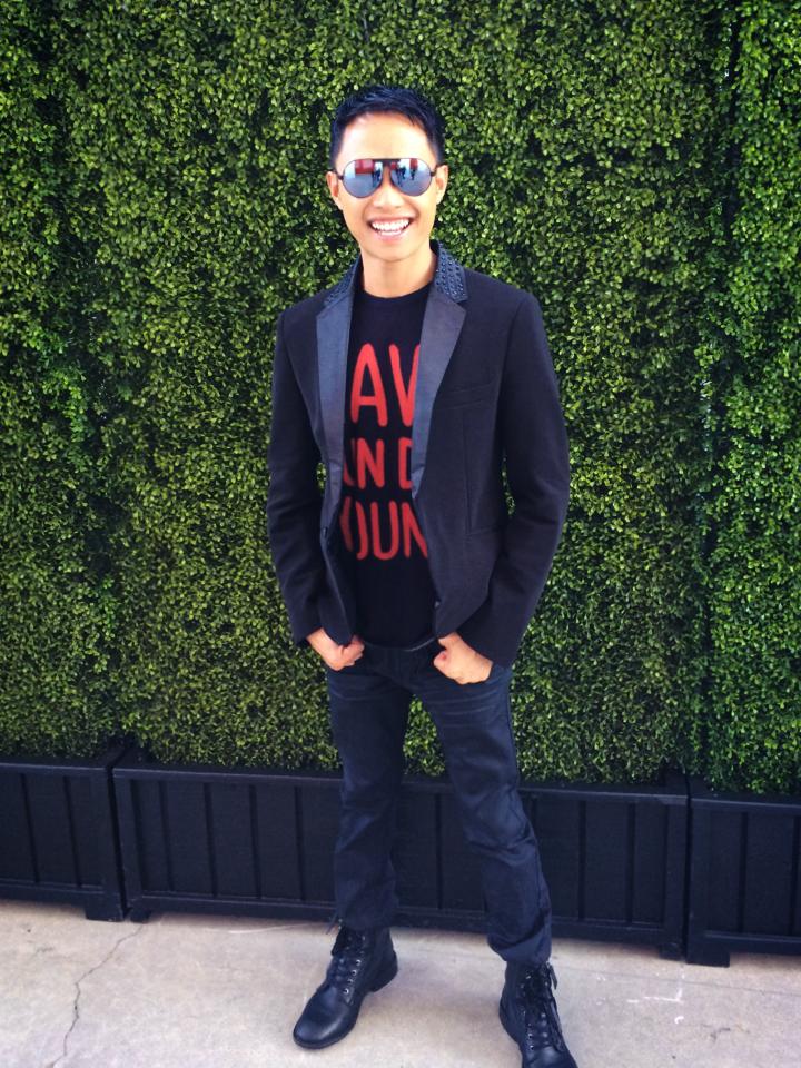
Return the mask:
[(506, 962), (501, 995), (501, 1022), (523, 1054), (522, 1068), (577, 1068), (562, 1037), (556, 1001), (557, 986), (550, 961), (542, 965)]

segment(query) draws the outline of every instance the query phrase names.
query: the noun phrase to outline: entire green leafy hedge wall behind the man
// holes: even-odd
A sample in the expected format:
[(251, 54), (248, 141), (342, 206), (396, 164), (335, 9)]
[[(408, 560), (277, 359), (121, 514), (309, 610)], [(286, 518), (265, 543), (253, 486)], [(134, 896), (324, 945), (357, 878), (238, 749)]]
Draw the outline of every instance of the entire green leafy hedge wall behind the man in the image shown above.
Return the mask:
[[(336, 767), (268, 552), (271, 360), (281, 308), (356, 253), (330, 113), (390, 81), (445, 118), (435, 236), (538, 296), (562, 386), (523, 774), (798, 785), (798, 6), (0, 18), (0, 752)], [(407, 755), (442, 771), (417, 701)]]

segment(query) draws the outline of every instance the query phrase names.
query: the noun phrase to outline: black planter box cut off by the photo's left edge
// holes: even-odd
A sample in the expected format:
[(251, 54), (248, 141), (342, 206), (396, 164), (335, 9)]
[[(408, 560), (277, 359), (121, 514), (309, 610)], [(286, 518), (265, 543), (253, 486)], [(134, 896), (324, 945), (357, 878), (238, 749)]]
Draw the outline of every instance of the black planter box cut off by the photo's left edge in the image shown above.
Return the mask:
[(0, 758), (0, 897), (79, 904), (90, 920), (125, 916), (111, 768), (97, 760)]

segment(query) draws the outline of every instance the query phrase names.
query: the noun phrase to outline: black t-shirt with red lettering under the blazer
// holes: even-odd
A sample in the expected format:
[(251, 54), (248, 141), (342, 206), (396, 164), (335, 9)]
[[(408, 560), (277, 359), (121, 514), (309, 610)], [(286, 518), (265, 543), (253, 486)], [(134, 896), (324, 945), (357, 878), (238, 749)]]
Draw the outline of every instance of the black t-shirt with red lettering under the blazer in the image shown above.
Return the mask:
[(433, 637), (435, 591), (412, 501), (412, 418), (431, 284), (400, 297), (354, 294), (339, 510), (356, 633), (380, 645)]

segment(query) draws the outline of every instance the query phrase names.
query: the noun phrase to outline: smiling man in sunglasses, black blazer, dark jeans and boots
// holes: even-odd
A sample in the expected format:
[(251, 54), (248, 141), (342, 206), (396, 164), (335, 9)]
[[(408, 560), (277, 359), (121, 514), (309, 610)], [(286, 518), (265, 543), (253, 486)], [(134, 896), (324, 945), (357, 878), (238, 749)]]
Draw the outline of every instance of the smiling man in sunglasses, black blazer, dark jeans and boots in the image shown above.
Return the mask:
[(431, 239), (448, 166), (442, 120), (418, 92), (374, 86), (345, 100), (326, 180), (359, 254), (279, 317), (267, 504), (293, 639), (324, 661), (343, 764), (339, 930), (294, 1038), (338, 1041), (397, 972), (389, 853), (417, 694), (481, 858), (487, 940), (506, 961), (503, 1026), (523, 1068), (575, 1068), (510, 706), (568, 500), (540, 305)]

